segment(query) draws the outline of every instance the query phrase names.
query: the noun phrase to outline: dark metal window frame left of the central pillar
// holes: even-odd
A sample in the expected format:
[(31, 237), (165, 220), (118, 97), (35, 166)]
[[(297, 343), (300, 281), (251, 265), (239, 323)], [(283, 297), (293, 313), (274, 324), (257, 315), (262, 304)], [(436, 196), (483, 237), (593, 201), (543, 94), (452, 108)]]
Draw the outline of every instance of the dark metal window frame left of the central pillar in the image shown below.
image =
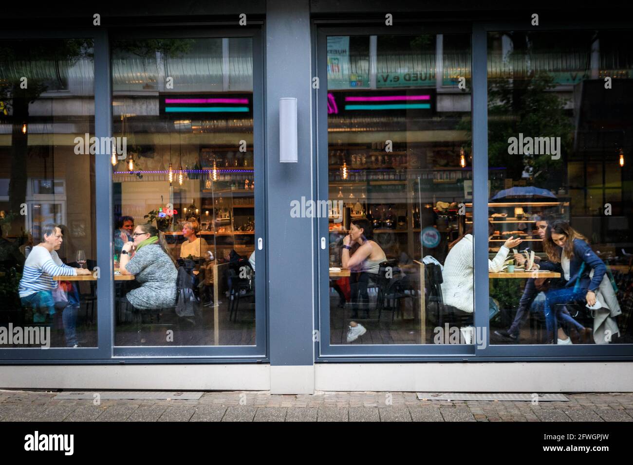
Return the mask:
[[(256, 237), (266, 243), (265, 218), (265, 164), (264, 164), (264, 61), (261, 23), (248, 27), (216, 27), (215, 25), (179, 25), (172, 27), (142, 27), (134, 30), (126, 28), (91, 28), (72, 31), (39, 30), (16, 32), (5, 30), (0, 33), (3, 39), (77, 39), (94, 40), (94, 136), (110, 137), (112, 132), (112, 84), (111, 84), (111, 40), (147, 39), (147, 38), (214, 38), (214, 37), (252, 37), (253, 39), (253, 137), (254, 160), (258, 166), (258, 179), (255, 199), (258, 208), (255, 211), (257, 226)], [(268, 361), (268, 284), (266, 268), (268, 259), (266, 250), (258, 251), (258, 275), (256, 280), (256, 344), (249, 346), (213, 345), (213, 346), (177, 346), (177, 347), (116, 347), (114, 345), (114, 280), (111, 251), (113, 247), (113, 189), (110, 158), (95, 158), (95, 194), (96, 211), (104, 212), (96, 216), (97, 266), (101, 270), (97, 294), (97, 347), (68, 348), (11, 348), (0, 349), (0, 364), (161, 364), (161, 363), (266, 363)], [(108, 278), (108, 276), (110, 276)], [(100, 311), (99, 311), (100, 310)]]

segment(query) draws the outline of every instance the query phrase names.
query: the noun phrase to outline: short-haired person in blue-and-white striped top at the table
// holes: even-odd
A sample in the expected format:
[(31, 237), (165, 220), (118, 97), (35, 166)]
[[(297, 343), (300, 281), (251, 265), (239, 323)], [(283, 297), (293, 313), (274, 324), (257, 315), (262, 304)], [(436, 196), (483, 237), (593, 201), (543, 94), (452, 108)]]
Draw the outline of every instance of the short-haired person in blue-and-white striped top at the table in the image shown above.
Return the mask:
[[(53, 224), (42, 227), (44, 240), (35, 245), (24, 263), (24, 272), (18, 286), (20, 302), (23, 307), (34, 310), (34, 323), (43, 323), (55, 314), (55, 300), (53, 291), (58, 288), (58, 281), (53, 276), (81, 276), (90, 275), (90, 270), (73, 268), (64, 264), (57, 252), (63, 236), (61, 229)], [(78, 303), (78, 302), (76, 302)], [(73, 311), (74, 310), (74, 311)], [(77, 347), (75, 326), (77, 321), (76, 307), (68, 306), (63, 309), (62, 321), (66, 336), (66, 346)]]

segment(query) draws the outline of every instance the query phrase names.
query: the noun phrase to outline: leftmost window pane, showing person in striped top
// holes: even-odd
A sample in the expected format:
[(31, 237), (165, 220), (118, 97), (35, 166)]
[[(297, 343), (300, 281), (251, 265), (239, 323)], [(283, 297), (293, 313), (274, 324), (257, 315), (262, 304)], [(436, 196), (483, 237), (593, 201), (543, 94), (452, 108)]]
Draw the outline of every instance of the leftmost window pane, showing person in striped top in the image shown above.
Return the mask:
[(92, 39), (0, 40), (0, 347), (96, 347)]

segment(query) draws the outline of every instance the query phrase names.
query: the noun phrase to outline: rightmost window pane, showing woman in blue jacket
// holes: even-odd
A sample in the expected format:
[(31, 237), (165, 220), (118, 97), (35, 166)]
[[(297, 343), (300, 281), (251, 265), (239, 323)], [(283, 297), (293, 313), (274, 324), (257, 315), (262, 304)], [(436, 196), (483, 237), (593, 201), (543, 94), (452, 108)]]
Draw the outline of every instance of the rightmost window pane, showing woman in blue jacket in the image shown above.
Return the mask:
[(625, 37), (488, 35), (491, 344), (633, 341)]

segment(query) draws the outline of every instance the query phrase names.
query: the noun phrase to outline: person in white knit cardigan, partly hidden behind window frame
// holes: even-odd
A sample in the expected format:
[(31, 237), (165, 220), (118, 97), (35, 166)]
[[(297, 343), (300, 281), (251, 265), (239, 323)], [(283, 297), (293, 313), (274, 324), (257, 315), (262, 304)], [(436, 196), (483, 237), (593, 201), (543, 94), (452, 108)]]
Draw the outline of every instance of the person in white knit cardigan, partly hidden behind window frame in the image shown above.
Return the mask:
[[(494, 226), (488, 223), (488, 240), (494, 233)], [(510, 249), (517, 247), (522, 239), (510, 239), (499, 247), (499, 252), (492, 260), (488, 260), (488, 270), (492, 273), (501, 271), (503, 263), (510, 252)], [(473, 235), (472, 226), (460, 238), (449, 245), (450, 251), (444, 261), (442, 270), (442, 297), (444, 304), (450, 305), (464, 311), (473, 313), (474, 293), (473, 293)]]

